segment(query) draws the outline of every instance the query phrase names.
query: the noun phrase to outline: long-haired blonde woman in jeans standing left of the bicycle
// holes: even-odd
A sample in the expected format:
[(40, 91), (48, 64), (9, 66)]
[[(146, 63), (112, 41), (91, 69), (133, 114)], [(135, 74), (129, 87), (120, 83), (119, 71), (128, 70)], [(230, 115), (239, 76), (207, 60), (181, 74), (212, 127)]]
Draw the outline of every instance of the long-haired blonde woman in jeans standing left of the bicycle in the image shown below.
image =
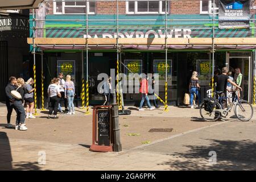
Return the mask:
[(194, 99), (194, 94), (196, 94), (196, 96), (198, 97), (198, 105), (200, 105), (200, 93), (199, 93), (199, 78), (197, 78), (197, 72), (194, 71), (192, 73), (190, 82), (189, 82), (189, 93), (190, 93), (190, 100), (189, 100), (189, 104), (191, 106), (191, 108), (194, 108), (195, 106), (193, 105), (193, 99)]

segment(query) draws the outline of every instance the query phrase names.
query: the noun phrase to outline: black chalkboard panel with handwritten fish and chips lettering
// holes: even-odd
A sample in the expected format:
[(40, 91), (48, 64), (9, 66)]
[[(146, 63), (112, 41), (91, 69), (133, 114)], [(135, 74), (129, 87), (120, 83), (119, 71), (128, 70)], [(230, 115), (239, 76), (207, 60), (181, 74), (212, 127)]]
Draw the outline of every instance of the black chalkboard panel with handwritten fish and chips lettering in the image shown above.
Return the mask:
[(98, 110), (98, 145), (110, 146), (110, 110)]

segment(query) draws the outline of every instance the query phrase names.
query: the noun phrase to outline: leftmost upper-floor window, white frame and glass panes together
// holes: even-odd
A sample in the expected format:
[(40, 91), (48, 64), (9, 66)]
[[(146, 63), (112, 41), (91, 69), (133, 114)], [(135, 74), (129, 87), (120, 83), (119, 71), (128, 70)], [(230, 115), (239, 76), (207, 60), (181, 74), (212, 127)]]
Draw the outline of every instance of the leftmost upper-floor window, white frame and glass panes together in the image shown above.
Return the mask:
[(53, 1), (53, 13), (54, 14), (95, 14), (96, 2), (86, 1)]

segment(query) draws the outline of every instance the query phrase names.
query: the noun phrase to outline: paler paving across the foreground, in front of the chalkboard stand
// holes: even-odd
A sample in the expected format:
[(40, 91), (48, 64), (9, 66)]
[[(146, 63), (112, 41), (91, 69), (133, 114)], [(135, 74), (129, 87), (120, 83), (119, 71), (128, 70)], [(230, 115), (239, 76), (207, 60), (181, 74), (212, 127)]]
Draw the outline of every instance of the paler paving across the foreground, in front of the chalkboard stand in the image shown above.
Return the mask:
[[(13, 170), (255, 170), (255, 122), (222, 122), (123, 152), (32, 140), (0, 140), (0, 169)], [(11, 149), (11, 150), (10, 150)], [(217, 164), (209, 163), (216, 151)], [(39, 165), (46, 154), (46, 164)]]

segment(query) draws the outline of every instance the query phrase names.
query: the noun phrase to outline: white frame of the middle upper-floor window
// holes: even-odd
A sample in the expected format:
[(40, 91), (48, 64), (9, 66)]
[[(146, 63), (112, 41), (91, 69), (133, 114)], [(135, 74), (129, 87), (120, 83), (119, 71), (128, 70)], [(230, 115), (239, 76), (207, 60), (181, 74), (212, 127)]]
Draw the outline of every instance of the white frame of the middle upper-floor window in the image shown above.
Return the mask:
[[(148, 2), (147, 0), (137, 0), (137, 1), (129, 1), (129, 0), (126, 0), (126, 14), (128, 15), (136, 15), (136, 14), (145, 14), (145, 15), (148, 15), (148, 14), (166, 14), (166, 11), (163, 11), (162, 9), (162, 6), (163, 6), (163, 1), (159, 1), (159, 11), (152, 11), (152, 12), (143, 12), (143, 11), (138, 11), (138, 1), (146, 1)], [(129, 11), (129, 2), (134, 2), (134, 11)], [(169, 14), (170, 12), (170, 2), (168, 1), (167, 2), (167, 13)]]

